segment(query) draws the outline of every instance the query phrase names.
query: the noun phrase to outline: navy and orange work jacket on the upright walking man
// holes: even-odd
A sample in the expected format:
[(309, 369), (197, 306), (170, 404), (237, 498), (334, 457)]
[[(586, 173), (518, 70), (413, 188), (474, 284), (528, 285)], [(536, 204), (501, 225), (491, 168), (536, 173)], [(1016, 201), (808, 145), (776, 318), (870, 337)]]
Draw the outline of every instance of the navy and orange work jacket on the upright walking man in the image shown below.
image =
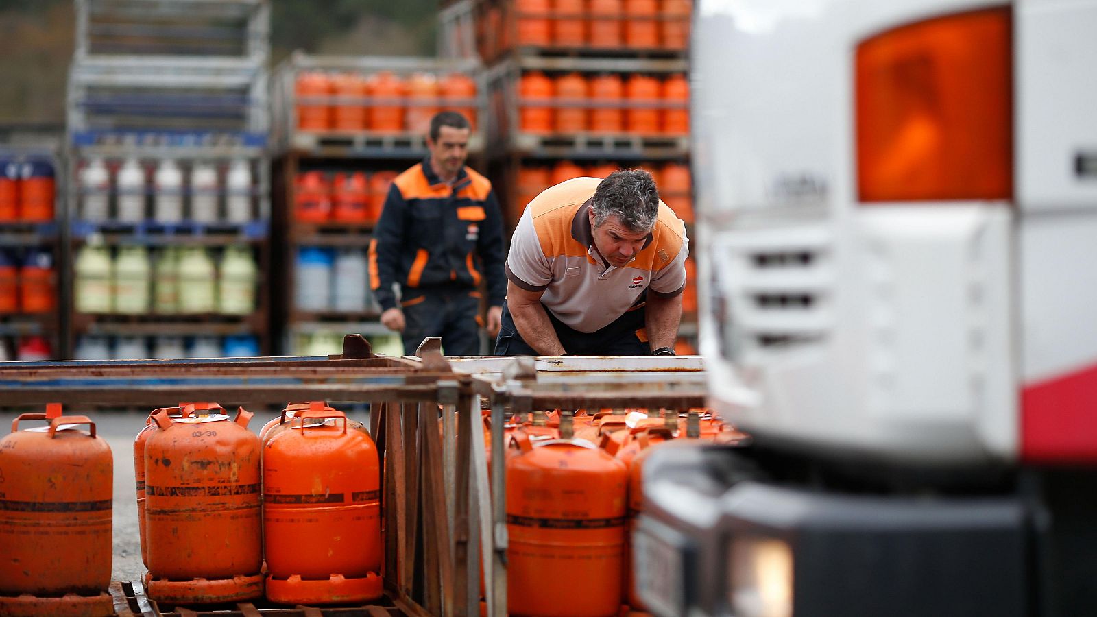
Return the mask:
[(396, 177), (370, 243), (370, 287), (382, 310), (416, 290), (474, 292), (486, 280), (488, 305), (507, 293), (502, 218), (491, 182), (468, 167), (442, 181), (428, 157)]

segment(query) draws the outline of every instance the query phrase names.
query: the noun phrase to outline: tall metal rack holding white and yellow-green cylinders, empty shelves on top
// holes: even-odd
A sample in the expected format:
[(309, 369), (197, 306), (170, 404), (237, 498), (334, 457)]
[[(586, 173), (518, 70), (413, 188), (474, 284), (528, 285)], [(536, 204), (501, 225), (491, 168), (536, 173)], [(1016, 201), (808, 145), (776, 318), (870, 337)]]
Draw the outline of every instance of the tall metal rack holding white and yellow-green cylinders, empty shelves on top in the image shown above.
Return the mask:
[[(106, 246), (202, 246), (216, 250), (234, 245), (251, 249), (260, 272), (255, 314), (140, 317), (82, 315), (72, 311), (64, 357), (71, 357), (83, 334), (202, 335), (247, 333), (261, 352), (270, 352), (270, 127), (267, 60), (268, 0), (78, 0), (76, 51), (69, 71), (67, 131), (69, 141), (67, 263), (89, 243)], [(88, 197), (79, 175), (93, 159), (116, 170), (133, 159), (143, 168), (149, 211), (155, 201), (150, 167), (172, 160), (208, 164), (216, 169), (216, 203), (246, 200), (249, 212), (216, 222), (112, 218), (88, 220), (81, 203)], [(250, 188), (227, 187), (230, 164), (241, 161)], [(111, 203), (118, 191), (113, 190)], [(137, 193), (135, 193), (137, 194)], [(233, 197), (230, 197), (230, 194)], [(194, 194), (185, 183), (180, 199)], [(220, 206), (215, 206), (219, 209)], [(246, 220), (241, 220), (246, 218)], [(71, 291), (71, 281), (69, 289)], [(71, 295), (70, 295), (71, 298)], [(133, 328), (133, 329), (128, 329)]]

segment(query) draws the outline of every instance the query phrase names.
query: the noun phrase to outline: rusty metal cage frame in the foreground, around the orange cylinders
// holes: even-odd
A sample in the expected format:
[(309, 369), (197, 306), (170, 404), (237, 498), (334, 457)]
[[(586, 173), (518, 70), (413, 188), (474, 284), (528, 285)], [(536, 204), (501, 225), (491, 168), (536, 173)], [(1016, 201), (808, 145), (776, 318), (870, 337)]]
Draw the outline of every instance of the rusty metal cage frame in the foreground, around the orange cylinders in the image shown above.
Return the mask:
[[(406, 615), (470, 617), (480, 614), (479, 559), (487, 614), (506, 615), (507, 606), (507, 457), (504, 440), (493, 439), (489, 475), (480, 399), (493, 426), (504, 426), (508, 412), (705, 404), (698, 357), (443, 359), (426, 348), (421, 355), (377, 357), (364, 339), (348, 336), (343, 354), (329, 358), (0, 364), (0, 380), (13, 405), (155, 407), (195, 391), (226, 406), (370, 403), (370, 433), (385, 460), (386, 594)], [(116, 587), (116, 602), (136, 603), (135, 587)], [(263, 614), (249, 610), (242, 614)]]

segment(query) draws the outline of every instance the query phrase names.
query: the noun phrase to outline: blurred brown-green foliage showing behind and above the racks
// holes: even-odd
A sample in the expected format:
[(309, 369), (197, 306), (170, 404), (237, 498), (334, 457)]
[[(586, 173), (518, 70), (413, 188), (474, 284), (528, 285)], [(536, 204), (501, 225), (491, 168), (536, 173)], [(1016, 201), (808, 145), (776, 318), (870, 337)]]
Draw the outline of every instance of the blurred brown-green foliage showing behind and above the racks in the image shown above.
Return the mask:
[[(171, 2), (173, 0), (161, 0)], [(0, 125), (65, 123), (75, 0), (0, 0)], [(433, 55), (437, 0), (270, 0), (271, 66), (313, 54)]]

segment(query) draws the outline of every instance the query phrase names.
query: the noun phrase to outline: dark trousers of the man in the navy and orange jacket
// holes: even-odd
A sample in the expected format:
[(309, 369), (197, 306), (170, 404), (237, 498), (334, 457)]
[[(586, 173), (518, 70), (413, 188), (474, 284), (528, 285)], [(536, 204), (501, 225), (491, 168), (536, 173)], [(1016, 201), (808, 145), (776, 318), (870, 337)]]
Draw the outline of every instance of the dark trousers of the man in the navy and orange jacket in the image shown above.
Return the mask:
[(404, 354), (412, 356), (423, 338), (440, 336), (446, 356), (479, 355), (479, 292), (406, 288), (404, 293)]

